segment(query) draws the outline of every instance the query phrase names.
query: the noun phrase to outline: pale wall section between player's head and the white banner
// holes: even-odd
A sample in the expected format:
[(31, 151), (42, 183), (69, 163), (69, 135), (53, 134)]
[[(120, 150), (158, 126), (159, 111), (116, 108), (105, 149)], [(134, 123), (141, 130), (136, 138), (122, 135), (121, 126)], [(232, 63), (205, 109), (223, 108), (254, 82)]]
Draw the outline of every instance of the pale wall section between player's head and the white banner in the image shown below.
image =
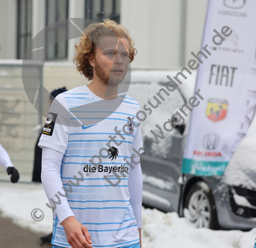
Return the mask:
[(206, 6), (206, 0), (122, 0), (121, 24), (131, 31), (138, 50), (133, 66), (184, 66), (182, 50), (187, 63), (190, 52), (200, 48)]

